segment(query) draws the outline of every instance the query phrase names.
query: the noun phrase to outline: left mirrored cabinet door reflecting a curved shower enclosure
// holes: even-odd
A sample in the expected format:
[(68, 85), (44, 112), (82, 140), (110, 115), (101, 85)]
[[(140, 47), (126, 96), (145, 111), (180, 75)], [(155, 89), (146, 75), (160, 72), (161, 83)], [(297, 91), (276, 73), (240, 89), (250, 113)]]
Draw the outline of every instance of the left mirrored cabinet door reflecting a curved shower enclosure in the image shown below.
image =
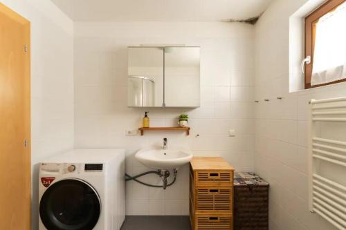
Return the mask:
[(163, 48), (129, 47), (127, 106), (163, 106)]

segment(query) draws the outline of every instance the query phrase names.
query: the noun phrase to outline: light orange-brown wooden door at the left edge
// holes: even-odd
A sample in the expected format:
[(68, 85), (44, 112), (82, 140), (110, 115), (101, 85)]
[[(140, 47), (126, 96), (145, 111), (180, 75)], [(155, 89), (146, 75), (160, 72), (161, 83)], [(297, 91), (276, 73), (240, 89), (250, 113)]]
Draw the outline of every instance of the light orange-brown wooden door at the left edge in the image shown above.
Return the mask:
[(30, 22), (0, 3), (0, 229), (30, 229)]

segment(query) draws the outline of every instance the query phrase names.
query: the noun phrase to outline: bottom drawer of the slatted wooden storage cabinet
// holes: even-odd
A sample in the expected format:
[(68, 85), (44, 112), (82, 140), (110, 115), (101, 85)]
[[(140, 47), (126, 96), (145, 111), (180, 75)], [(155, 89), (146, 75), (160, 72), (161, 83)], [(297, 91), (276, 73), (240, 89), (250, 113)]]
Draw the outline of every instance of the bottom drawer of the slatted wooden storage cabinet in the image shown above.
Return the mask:
[(196, 214), (196, 230), (231, 230), (233, 229), (232, 215), (230, 214)]

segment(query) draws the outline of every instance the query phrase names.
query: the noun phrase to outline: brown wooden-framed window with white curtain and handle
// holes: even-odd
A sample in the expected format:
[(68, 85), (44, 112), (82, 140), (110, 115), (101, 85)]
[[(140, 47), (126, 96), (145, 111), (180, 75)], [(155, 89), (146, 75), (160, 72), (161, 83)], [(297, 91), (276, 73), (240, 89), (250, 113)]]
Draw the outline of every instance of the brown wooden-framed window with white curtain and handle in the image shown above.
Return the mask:
[(305, 57), (305, 88), (346, 82), (346, 0), (329, 0), (305, 17)]

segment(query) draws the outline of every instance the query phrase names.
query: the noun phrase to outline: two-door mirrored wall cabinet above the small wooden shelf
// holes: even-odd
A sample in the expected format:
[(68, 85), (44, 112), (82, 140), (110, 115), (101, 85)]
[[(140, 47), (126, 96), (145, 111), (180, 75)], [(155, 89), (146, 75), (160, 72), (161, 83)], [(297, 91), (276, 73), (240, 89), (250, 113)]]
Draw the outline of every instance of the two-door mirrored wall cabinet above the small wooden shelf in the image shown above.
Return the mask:
[(129, 107), (199, 107), (200, 48), (129, 47)]

